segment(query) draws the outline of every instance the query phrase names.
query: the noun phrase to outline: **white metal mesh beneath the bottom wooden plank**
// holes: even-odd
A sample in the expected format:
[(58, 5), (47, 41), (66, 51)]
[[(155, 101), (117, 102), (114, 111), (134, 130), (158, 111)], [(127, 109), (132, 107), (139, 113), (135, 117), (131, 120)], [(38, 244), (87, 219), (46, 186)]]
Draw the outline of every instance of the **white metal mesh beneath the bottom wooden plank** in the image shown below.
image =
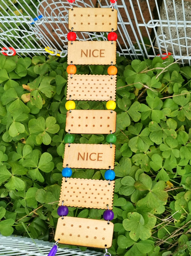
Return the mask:
[[(53, 243), (46, 241), (40, 241), (38, 239), (31, 239), (28, 237), (20, 236), (2, 236), (0, 234), (0, 255), (3, 256), (47, 256), (52, 248)], [(59, 248), (56, 256), (103, 256), (103, 252), (95, 251), (81, 251), (80, 249), (70, 249), (70, 248)]]

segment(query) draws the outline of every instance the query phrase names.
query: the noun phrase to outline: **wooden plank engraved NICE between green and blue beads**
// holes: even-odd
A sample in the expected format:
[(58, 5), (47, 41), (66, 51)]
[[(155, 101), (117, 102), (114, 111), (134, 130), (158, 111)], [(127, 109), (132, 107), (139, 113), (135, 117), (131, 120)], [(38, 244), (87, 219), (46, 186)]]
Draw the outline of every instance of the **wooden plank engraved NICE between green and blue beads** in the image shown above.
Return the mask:
[(115, 145), (76, 144), (65, 145), (63, 167), (86, 169), (114, 169)]

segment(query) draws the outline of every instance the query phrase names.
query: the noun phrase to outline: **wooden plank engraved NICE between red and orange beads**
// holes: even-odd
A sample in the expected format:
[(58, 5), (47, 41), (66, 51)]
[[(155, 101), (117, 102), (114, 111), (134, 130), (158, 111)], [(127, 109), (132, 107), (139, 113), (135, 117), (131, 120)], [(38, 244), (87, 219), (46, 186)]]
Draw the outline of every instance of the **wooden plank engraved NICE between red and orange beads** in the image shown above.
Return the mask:
[(68, 42), (68, 64), (113, 65), (116, 64), (116, 41)]

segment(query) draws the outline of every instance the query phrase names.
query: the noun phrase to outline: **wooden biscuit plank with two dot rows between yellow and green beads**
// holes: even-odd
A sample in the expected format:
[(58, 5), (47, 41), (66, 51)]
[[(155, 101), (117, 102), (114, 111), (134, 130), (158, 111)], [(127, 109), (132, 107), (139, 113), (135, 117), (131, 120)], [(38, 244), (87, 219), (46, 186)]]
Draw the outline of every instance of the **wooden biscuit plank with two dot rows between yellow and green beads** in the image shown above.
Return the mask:
[(109, 134), (116, 130), (116, 112), (72, 109), (66, 113), (66, 131), (80, 134)]

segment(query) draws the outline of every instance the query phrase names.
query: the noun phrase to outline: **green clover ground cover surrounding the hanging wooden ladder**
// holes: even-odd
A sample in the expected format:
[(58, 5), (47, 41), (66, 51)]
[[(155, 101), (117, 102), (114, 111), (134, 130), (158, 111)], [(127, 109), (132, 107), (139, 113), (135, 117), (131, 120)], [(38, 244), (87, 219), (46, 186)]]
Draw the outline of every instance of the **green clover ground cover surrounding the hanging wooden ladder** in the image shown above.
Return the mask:
[[(111, 255), (191, 255), (191, 68), (117, 58), (114, 238)], [(0, 56), (0, 232), (53, 241), (65, 148), (66, 59)], [(107, 74), (107, 66), (77, 66)], [(76, 101), (77, 109), (106, 102)], [(106, 143), (77, 134), (75, 143)], [(104, 179), (105, 170), (72, 177)], [(101, 219), (104, 210), (69, 207)], [(85, 248), (82, 248), (85, 250)]]

